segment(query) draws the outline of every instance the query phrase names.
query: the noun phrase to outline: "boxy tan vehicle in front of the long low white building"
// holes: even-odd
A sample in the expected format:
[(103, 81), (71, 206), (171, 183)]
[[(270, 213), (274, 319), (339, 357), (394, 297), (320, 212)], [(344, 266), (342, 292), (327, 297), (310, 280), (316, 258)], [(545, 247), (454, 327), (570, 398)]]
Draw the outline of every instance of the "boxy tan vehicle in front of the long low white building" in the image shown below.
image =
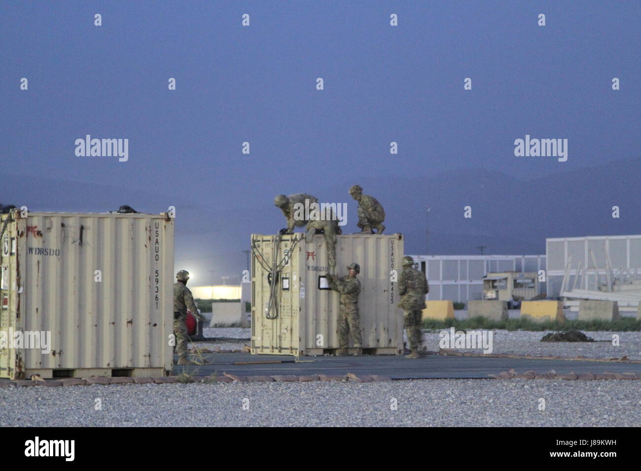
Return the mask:
[(507, 301), (508, 309), (520, 308), (521, 301), (545, 297), (538, 290), (538, 274), (534, 272), (488, 273), (483, 278), (483, 299)]

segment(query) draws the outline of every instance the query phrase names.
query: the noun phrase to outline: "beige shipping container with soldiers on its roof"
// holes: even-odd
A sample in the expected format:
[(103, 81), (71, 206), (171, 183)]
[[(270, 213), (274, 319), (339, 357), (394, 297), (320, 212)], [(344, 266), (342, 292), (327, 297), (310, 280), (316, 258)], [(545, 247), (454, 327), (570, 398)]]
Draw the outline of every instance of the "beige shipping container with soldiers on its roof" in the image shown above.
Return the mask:
[[(308, 356), (338, 349), (339, 294), (328, 286), (324, 235), (309, 243), (300, 233), (252, 235), (251, 246), (251, 352)], [(337, 236), (337, 276), (347, 275), (350, 263), (360, 265), (358, 308), (365, 354), (403, 353), (403, 311), (397, 308), (395, 282), (402, 258), (401, 234)], [(349, 348), (353, 352), (351, 336)]]

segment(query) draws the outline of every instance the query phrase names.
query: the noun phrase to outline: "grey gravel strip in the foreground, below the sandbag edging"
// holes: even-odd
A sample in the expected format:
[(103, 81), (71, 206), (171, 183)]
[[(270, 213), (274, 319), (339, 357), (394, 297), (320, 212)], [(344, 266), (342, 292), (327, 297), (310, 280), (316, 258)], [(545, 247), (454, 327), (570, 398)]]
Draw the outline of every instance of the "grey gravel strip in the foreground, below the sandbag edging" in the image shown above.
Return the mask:
[(639, 427), (637, 383), (429, 379), (10, 388), (0, 389), (0, 427)]

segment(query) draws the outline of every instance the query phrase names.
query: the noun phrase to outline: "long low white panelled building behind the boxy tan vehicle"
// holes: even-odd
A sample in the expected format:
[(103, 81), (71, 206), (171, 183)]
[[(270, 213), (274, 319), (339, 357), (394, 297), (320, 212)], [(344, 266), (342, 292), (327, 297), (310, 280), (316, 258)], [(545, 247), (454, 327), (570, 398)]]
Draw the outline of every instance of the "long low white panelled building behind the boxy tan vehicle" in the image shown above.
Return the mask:
[[(428, 277), (428, 301), (481, 299), (483, 277), (496, 272), (545, 270), (545, 255), (412, 255)], [(540, 284), (545, 292), (545, 283)]]

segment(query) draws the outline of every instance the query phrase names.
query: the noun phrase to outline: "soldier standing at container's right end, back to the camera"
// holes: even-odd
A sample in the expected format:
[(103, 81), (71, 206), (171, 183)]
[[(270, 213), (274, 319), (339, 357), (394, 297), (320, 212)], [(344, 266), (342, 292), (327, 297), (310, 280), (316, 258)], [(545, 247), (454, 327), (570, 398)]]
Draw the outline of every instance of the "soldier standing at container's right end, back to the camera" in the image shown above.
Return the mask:
[(429, 291), (425, 274), (413, 267), (412, 257), (403, 257), (403, 272), (399, 277), (399, 293), (401, 302), (399, 308), (403, 313), (403, 321), (410, 343), (410, 353), (405, 358), (419, 358), (420, 344), (423, 333), (420, 329), (421, 311), (425, 309), (425, 295)]

